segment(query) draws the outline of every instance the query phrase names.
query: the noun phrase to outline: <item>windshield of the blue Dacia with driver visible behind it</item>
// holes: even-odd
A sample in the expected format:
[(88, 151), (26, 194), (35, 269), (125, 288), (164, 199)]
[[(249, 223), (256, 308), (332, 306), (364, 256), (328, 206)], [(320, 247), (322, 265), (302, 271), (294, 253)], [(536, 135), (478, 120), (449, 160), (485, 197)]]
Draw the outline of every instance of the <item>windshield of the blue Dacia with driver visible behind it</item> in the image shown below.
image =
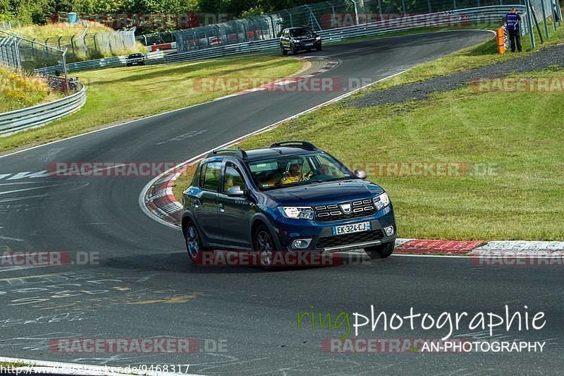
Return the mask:
[(323, 152), (261, 159), (247, 166), (261, 190), (354, 178), (345, 165)]

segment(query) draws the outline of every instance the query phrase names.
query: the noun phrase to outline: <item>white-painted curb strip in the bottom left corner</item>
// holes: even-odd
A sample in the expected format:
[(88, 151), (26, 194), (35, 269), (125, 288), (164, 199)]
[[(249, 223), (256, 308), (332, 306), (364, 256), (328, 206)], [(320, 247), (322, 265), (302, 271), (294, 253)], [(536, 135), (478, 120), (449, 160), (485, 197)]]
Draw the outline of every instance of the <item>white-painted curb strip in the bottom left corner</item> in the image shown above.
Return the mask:
[[(100, 376), (199, 376), (192, 373), (158, 372), (137, 369), (135, 366), (90, 365), (80, 363), (49, 362), (47, 360), (32, 360), (20, 358), (6, 358), (0, 356), (3, 364), (1, 375), (100, 375)], [(11, 366), (16, 365), (17, 366)], [(24, 365), (23, 365), (24, 364)]]

